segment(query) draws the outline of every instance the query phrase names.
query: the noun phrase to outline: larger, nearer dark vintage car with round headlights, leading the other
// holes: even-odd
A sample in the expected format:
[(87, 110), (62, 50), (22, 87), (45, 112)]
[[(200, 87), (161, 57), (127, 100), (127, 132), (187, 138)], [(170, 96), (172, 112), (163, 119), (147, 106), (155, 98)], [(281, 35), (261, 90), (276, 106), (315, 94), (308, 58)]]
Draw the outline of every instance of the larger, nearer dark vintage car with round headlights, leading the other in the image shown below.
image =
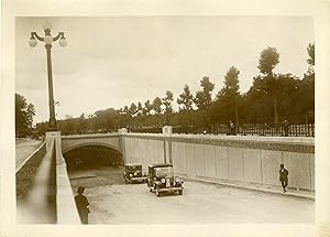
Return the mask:
[(148, 165), (147, 186), (150, 192), (155, 192), (157, 196), (162, 193), (178, 193), (183, 194), (184, 181), (174, 176), (172, 164), (151, 164)]

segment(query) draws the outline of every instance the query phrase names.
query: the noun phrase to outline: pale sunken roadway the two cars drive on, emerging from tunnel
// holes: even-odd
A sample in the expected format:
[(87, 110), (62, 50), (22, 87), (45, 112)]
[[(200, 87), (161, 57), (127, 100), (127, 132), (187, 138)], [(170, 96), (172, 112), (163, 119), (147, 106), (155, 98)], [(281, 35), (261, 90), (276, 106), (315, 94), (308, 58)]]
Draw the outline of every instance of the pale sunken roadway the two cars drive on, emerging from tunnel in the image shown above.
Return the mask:
[(315, 202), (186, 181), (183, 195), (157, 197), (146, 184), (124, 184), (122, 169), (70, 171), (86, 187), (90, 224), (312, 224)]

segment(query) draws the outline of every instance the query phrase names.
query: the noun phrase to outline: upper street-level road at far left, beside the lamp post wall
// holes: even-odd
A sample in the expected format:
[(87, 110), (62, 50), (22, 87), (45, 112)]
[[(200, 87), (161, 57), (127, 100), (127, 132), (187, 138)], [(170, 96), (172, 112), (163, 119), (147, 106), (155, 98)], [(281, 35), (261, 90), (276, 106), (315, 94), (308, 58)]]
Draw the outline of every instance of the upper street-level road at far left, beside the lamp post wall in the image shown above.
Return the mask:
[(42, 141), (32, 139), (16, 139), (15, 153), (16, 153), (16, 168), (29, 158), (36, 149), (40, 148)]

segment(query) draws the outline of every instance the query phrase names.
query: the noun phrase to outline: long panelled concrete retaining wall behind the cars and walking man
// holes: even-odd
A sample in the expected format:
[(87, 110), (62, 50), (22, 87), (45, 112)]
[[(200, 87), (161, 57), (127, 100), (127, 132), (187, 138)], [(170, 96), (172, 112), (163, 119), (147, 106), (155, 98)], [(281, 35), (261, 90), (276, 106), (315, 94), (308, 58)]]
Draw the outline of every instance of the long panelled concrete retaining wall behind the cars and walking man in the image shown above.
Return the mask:
[(279, 164), (289, 171), (289, 186), (315, 190), (314, 138), (123, 134), (125, 163), (173, 163), (191, 177), (279, 185)]

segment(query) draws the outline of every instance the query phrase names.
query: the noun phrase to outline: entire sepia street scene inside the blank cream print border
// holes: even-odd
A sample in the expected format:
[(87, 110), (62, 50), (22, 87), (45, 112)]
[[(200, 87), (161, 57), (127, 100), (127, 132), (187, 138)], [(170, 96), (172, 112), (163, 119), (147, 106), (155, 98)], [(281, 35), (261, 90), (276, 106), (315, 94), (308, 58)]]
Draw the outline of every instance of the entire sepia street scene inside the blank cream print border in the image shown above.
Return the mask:
[(16, 17), (18, 224), (315, 224), (312, 17)]

